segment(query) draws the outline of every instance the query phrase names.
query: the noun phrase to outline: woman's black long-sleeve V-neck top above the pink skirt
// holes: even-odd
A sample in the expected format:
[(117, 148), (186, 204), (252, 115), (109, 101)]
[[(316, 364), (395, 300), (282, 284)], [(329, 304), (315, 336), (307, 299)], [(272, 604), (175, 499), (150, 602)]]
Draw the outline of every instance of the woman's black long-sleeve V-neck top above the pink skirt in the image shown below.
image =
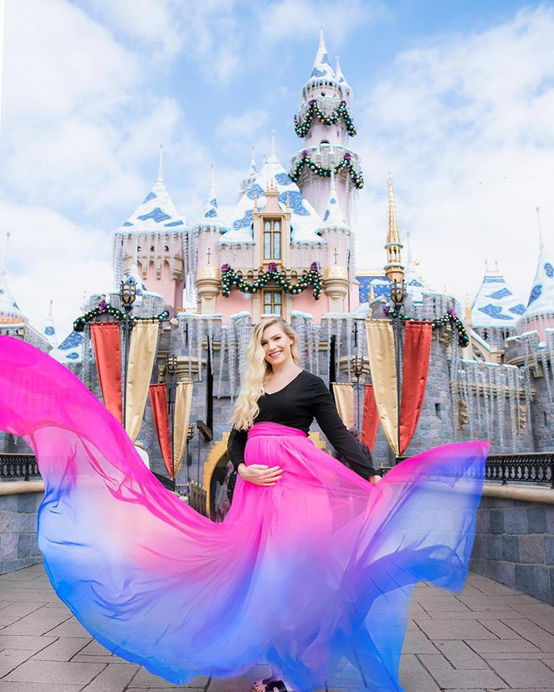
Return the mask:
[[(361, 477), (368, 478), (377, 471), (352, 437), (334, 405), (331, 392), (318, 376), (302, 370), (285, 387), (258, 399), (260, 412), (254, 423), (280, 423), (308, 434), (314, 417), (323, 434)], [(229, 435), (229, 458), (235, 467), (244, 462), (248, 431), (233, 428)]]

